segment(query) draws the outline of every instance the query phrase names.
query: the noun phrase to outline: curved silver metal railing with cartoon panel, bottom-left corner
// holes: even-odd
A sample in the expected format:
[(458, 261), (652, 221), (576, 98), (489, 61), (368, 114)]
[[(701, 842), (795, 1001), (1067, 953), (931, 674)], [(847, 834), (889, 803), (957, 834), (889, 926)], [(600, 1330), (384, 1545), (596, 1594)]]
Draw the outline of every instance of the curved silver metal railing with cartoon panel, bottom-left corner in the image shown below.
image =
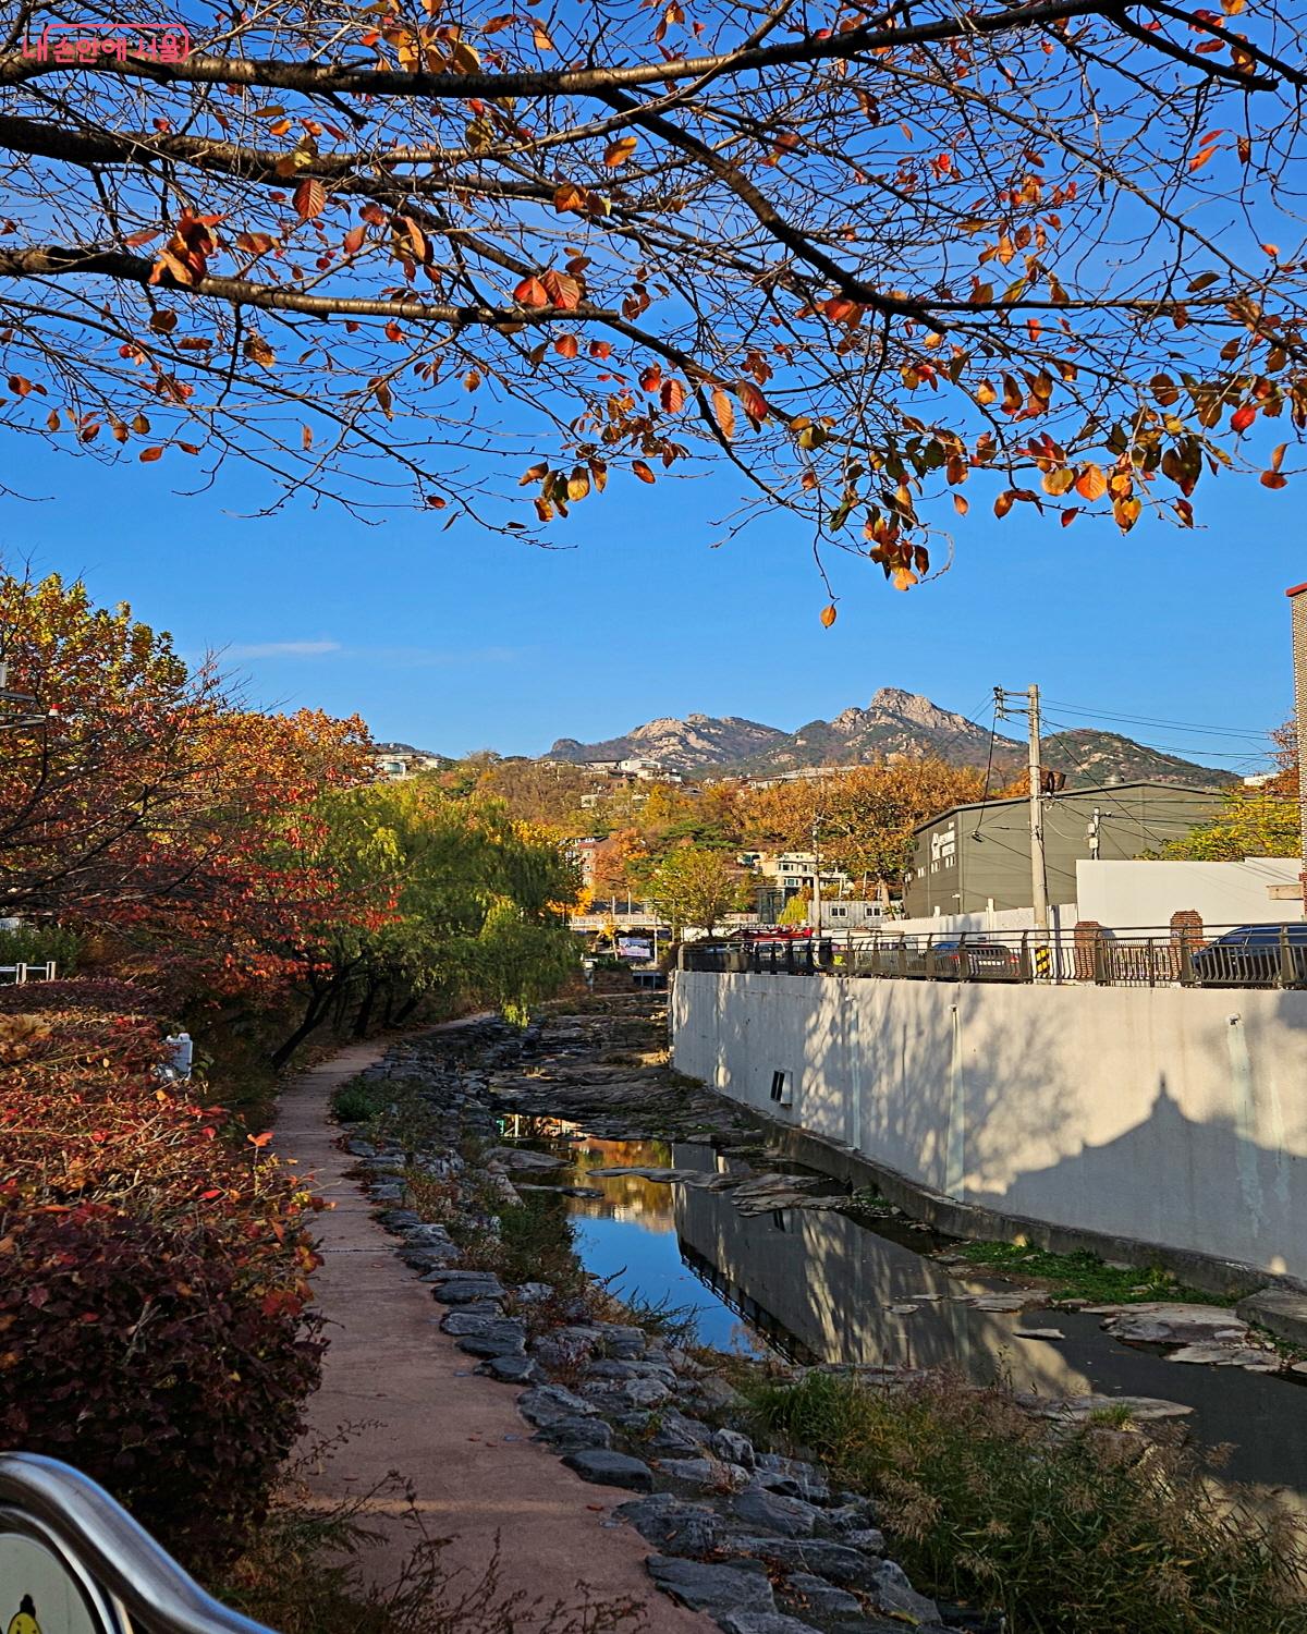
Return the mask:
[(52, 1458), (7, 1453), (0, 1613), (25, 1609), (47, 1634), (271, 1634), (206, 1595), (93, 1480)]

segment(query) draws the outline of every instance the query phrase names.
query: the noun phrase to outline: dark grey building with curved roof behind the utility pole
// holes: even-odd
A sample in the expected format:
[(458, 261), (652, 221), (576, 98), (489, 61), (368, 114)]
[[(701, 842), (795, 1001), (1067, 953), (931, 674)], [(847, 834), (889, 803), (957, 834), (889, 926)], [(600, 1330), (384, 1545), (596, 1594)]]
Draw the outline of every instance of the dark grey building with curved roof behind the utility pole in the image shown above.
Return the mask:
[[(1160, 851), (1224, 809), (1224, 796), (1171, 783), (1119, 783), (1044, 797), (1049, 902), (1075, 902), (1080, 858), (1129, 859)], [(908, 918), (1034, 905), (1029, 802), (954, 806), (913, 837), (903, 876)]]

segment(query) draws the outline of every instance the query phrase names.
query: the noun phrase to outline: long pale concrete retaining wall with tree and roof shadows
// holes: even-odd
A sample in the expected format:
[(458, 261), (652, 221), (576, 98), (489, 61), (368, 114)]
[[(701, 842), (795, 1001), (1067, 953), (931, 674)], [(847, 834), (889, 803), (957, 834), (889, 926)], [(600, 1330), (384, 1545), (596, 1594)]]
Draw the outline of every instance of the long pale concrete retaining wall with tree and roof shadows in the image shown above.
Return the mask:
[(926, 1191), (1307, 1278), (1307, 993), (681, 971), (671, 1025), (678, 1070)]

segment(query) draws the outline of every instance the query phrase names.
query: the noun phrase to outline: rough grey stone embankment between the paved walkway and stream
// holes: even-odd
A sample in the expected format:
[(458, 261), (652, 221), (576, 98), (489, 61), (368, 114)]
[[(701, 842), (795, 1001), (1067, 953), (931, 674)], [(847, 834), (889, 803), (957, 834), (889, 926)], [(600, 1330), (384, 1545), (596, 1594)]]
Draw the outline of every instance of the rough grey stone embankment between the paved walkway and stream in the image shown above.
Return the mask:
[[(654, 1583), (727, 1634), (997, 1629), (912, 1587), (866, 1497), (755, 1446), (738, 1428), (742, 1399), (706, 1353), (671, 1343), (657, 1322), (640, 1325), (593, 1284), (560, 1289), (493, 1270), (495, 1209), (565, 1162), (508, 1144), (505, 1131), (523, 1127), (513, 1114), (564, 1118), (598, 1139), (758, 1147), (747, 1114), (631, 1052), (647, 1042), (642, 1007), (613, 1000), (608, 1010), (559, 1015), (526, 1034), (487, 1021), (404, 1041), (363, 1074), (381, 1101), (394, 1087), (395, 1105), (417, 1096), (422, 1106), (420, 1137), (353, 1132), (346, 1150), (444, 1333), (479, 1373), (520, 1389), (536, 1441), (582, 1479), (634, 1493), (608, 1525), (634, 1528), (657, 1551)], [(737, 1188), (737, 1203), (828, 1206), (810, 1185), (765, 1173)]]

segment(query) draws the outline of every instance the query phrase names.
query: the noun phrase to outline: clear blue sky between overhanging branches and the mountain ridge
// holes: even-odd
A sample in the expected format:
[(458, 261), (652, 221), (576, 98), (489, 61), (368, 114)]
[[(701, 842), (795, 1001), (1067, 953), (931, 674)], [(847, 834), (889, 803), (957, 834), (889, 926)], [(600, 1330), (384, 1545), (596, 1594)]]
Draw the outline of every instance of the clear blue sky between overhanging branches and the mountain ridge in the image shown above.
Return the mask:
[[(265, 706), (359, 711), (379, 739), (444, 753), (542, 753), (654, 716), (738, 714), (781, 727), (866, 703), (879, 686), (990, 719), (990, 688), (1036, 680), (1052, 724), (1096, 712), (1260, 732), (1291, 706), (1284, 588), (1307, 578), (1296, 484), (1204, 482), (1206, 529), (1147, 516), (1129, 539), (1086, 516), (1003, 523), (975, 495), (951, 572), (907, 595), (835, 552), (840, 618), (809, 541), (784, 516), (711, 549), (725, 480), (616, 477), (539, 551), (430, 516), (369, 528), (307, 507), (271, 520), (239, 474), (212, 493), (170, 489), (180, 467), (105, 469), (34, 446), (0, 500), (10, 564), (83, 575), (198, 655), (227, 663)], [(1206, 497), (1204, 490), (1206, 489)], [(1253, 739), (1111, 721), (1194, 758), (1248, 770)]]

